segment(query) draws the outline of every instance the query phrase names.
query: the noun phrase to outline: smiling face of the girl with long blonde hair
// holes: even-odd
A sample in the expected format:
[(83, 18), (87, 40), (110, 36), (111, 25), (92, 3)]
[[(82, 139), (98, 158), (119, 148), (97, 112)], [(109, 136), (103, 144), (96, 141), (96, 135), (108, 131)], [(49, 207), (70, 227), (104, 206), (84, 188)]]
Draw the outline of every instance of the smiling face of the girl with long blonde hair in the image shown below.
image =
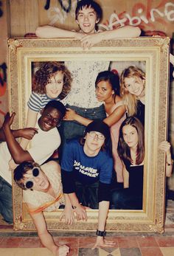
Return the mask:
[(125, 77), (125, 89), (136, 97), (145, 96), (145, 80), (139, 77)]

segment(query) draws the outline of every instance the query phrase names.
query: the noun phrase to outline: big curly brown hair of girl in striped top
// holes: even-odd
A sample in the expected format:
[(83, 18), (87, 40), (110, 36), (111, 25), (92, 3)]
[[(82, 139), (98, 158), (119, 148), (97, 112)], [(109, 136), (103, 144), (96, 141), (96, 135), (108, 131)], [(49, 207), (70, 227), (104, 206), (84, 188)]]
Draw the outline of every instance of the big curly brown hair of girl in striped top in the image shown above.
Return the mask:
[(32, 80), (32, 91), (45, 94), (46, 85), (57, 72), (62, 72), (63, 74), (63, 90), (58, 96), (60, 100), (63, 100), (71, 90), (72, 75), (62, 62), (48, 61), (42, 63)]

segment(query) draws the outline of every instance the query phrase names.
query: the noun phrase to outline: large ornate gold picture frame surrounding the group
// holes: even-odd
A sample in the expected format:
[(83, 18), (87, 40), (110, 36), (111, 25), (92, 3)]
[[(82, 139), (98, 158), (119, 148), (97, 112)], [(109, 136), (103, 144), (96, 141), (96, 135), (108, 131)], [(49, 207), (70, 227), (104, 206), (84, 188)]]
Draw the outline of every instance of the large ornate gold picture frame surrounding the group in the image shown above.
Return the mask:
[[(148, 85), (148, 89), (150, 89), (150, 92), (152, 94), (156, 94), (156, 86), (158, 86), (158, 95), (161, 95), (164, 98), (165, 107), (164, 112), (161, 114), (159, 113), (159, 108), (161, 108), (161, 101), (156, 101), (153, 97), (151, 98), (151, 105), (153, 100), (155, 100), (156, 103), (156, 113), (157, 116), (153, 116), (153, 119), (156, 119), (156, 127), (159, 128), (159, 133), (155, 132), (155, 135), (152, 134), (152, 131), (148, 129), (148, 135), (150, 134), (150, 137), (152, 138), (154, 145), (151, 145), (150, 142), (147, 142), (147, 149), (149, 149), (151, 146), (153, 146), (153, 154), (150, 159), (147, 159), (147, 167), (150, 165), (150, 161), (152, 160), (153, 165), (155, 166), (155, 169), (153, 171), (153, 188), (154, 188), (154, 197), (153, 202), (154, 205), (150, 207), (150, 204), (147, 202), (145, 207), (145, 212), (138, 212), (137, 214), (134, 213), (134, 218), (136, 221), (133, 221), (133, 218), (131, 218), (132, 212), (130, 214), (125, 214), (124, 211), (121, 211), (122, 214), (125, 214), (125, 218), (119, 217), (119, 213), (115, 211), (115, 217), (113, 214), (111, 215), (109, 213), (108, 215), (108, 223), (106, 224), (106, 229), (109, 231), (144, 231), (144, 232), (164, 232), (164, 195), (165, 195), (165, 176), (164, 176), (164, 153), (161, 153), (158, 151), (157, 147), (159, 145), (159, 142), (164, 140), (167, 136), (167, 101), (168, 101), (168, 80), (166, 77), (168, 77), (168, 55), (169, 55), (169, 44), (170, 44), (170, 38), (131, 38), (131, 39), (118, 39), (116, 41), (107, 41), (102, 42), (100, 44), (97, 44), (97, 46), (94, 46), (92, 49), (89, 49), (87, 51), (83, 51), (83, 49), (80, 48), (80, 42), (76, 40), (70, 40), (70, 39), (24, 39), (24, 38), (10, 38), (8, 40), (9, 44), (9, 102), (10, 102), (10, 111), (16, 111), (16, 117), (15, 122), (13, 125), (13, 128), (19, 128), (21, 126), (24, 126), (25, 119), (24, 115), (26, 113), (26, 103), (24, 103), (24, 81), (26, 79), (26, 58), (29, 60), (35, 60), (35, 55), (38, 52), (41, 57), (41, 53), (44, 56), (44, 59), (47, 59), (47, 55), (52, 54), (55, 52), (56, 54), (60, 52), (61, 55), (65, 55), (65, 49), (66, 54), (70, 54), (69, 52), (72, 52), (71, 54), (74, 56), (77, 55), (96, 55), (96, 57), (100, 56), (101, 53), (105, 52), (105, 55), (108, 54), (108, 56), (111, 56), (111, 52), (114, 50), (114, 55), (119, 56), (120, 59), (127, 58), (129, 60), (133, 59), (130, 58), (131, 55), (135, 55), (135, 59), (139, 59), (140, 61), (146, 60), (151, 63), (151, 66), (155, 64), (156, 69), (154, 78), (153, 75), (150, 75), (149, 80), (153, 80), (153, 86), (152, 89), (150, 89), (150, 85)], [(132, 46), (133, 45), (133, 46)], [(145, 47), (146, 46), (146, 47)], [(139, 53), (144, 49), (144, 52), (142, 52), (142, 55)], [(29, 53), (30, 52), (30, 53)], [(47, 52), (47, 54), (46, 54)], [(152, 60), (155, 56), (156, 63), (154, 63)], [(29, 57), (30, 56), (30, 57)], [(146, 57), (145, 57), (146, 56)], [(149, 57), (148, 57), (149, 56)], [(38, 57), (37, 57), (38, 58)], [(109, 57), (110, 58), (110, 57)], [(51, 60), (55, 60), (56, 58), (52, 58)], [(49, 58), (48, 58), (49, 60)], [(159, 62), (158, 62), (158, 61)], [(17, 65), (16, 65), (17, 63)], [(20, 64), (19, 64), (20, 63)], [(166, 63), (167, 68), (164, 69), (164, 75), (161, 76), (161, 69), (162, 64)], [(24, 66), (22, 66), (24, 64)], [(27, 68), (28, 69), (28, 68)], [(17, 75), (16, 75), (17, 74)], [(157, 79), (159, 75), (159, 79)], [(165, 77), (165, 79), (164, 79)], [(157, 80), (159, 85), (157, 85)], [(27, 82), (28, 83), (28, 82)], [(30, 81), (29, 81), (30, 83)], [(150, 83), (150, 82), (149, 82)], [(17, 93), (16, 93), (17, 91)], [(15, 104), (15, 102), (19, 103), (19, 105)], [(150, 106), (152, 110), (152, 106)], [(22, 109), (22, 110), (21, 110)], [(146, 107), (146, 110), (148, 107)], [(160, 117), (160, 118), (159, 118)], [(158, 122), (158, 123), (157, 123)], [(151, 126), (153, 126), (154, 122), (151, 120), (149, 121)], [(165, 125), (164, 125), (165, 124)], [(163, 125), (163, 126), (162, 126)], [(162, 129), (161, 129), (162, 128)], [(154, 136), (154, 137), (153, 137)], [(156, 152), (154, 152), (156, 151)], [(155, 160), (154, 160), (155, 159)], [(160, 160), (162, 159), (162, 160)], [(150, 171), (148, 171), (150, 173)], [(147, 177), (147, 182), (149, 181), (149, 177)], [(159, 186), (159, 190), (157, 190), (157, 183)], [(146, 186), (147, 190), (147, 186)], [(150, 192), (151, 193), (151, 192)], [(153, 195), (153, 193), (151, 193)], [(157, 196), (158, 195), (158, 196)], [(30, 230), (35, 229), (34, 225), (32, 224), (32, 221), (24, 221), (22, 220), (22, 203), (21, 203), (21, 189), (18, 188), (15, 184), (13, 184), (13, 198), (14, 198), (14, 229), (23, 229), (23, 230)], [(145, 196), (146, 201), (147, 195)], [(153, 209), (151, 209), (153, 208)], [(46, 214), (46, 215), (49, 215)], [(130, 215), (130, 216), (129, 216)], [(56, 224), (52, 224), (52, 221), (49, 221), (49, 218), (47, 218), (47, 225), (48, 229), (51, 230), (76, 230), (76, 229), (83, 229), (89, 230), (92, 229), (92, 226), (96, 228), (97, 225), (97, 215), (92, 219), (91, 223), (76, 223), (76, 228), (74, 226), (67, 227), (65, 224), (60, 223), (56, 218)], [(118, 222), (117, 222), (118, 221)], [(131, 222), (133, 221), (133, 222)], [(94, 225), (95, 224), (95, 225)], [(56, 228), (55, 228), (56, 226)]]

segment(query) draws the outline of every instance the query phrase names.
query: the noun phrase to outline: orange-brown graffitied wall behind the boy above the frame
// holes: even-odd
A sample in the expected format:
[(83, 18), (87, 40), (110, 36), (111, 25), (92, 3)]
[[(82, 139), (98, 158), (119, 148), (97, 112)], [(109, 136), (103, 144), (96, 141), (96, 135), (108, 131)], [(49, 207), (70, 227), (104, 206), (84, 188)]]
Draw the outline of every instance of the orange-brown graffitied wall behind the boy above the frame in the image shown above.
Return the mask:
[[(77, 29), (74, 10), (78, 0), (10, 0), (11, 35), (24, 36), (39, 25), (50, 24), (67, 30)], [(174, 1), (98, 0), (103, 10), (100, 30), (130, 24), (143, 30), (173, 34)]]

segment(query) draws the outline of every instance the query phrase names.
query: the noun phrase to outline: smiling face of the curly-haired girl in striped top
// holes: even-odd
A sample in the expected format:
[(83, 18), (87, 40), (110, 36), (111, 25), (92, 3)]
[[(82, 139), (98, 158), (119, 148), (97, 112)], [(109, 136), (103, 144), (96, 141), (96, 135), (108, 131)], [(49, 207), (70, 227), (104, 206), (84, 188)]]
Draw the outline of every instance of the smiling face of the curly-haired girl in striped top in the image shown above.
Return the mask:
[(46, 95), (50, 99), (55, 99), (58, 97), (58, 95), (61, 93), (63, 90), (63, 73), (62, 72), (57, 72), (55, 75), (53, 75), (49, 83), (46, 85)]

